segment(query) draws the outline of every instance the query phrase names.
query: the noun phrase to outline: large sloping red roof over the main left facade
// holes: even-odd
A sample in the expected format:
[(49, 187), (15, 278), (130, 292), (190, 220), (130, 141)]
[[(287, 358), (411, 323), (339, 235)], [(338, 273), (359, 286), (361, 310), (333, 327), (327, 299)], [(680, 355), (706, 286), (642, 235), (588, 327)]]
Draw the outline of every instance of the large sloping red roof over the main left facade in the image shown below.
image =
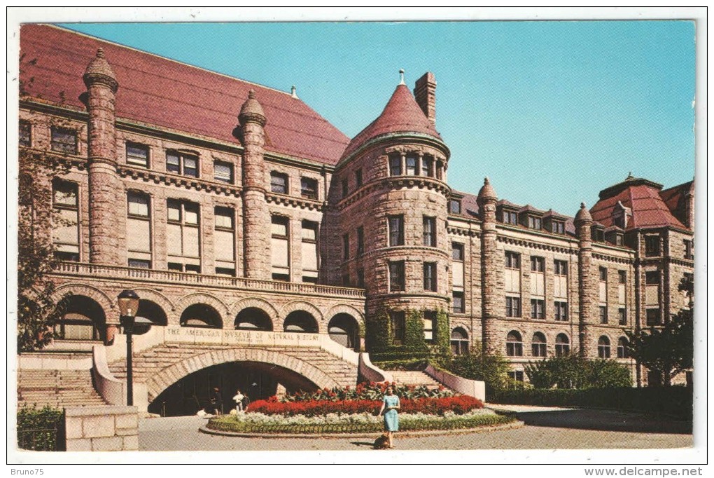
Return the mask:
[(255, 89), (267, 117), (266, 150), (336, 164), (348, 144), (347, 136), (288, 93), (56, 26), (21, 27), (26, 91), (84, 110), (82, 74), (99, 47), (119, 81), (119, 118), (237, 143), (238, 112)]

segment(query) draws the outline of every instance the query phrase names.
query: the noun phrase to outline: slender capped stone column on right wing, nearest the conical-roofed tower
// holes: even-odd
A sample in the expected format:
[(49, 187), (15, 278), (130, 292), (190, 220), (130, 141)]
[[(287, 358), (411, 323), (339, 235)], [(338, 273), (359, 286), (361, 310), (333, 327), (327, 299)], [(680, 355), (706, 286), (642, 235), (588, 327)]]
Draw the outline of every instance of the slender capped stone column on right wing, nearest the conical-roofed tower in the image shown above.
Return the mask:
[(483, 180), (478, 191), (478, 214), (481, 216), (481, 340), (489, 354), (498, 351), (498, 318), (503, 304), (498, 303), (498, 248), (496, 246), (496, 191)]

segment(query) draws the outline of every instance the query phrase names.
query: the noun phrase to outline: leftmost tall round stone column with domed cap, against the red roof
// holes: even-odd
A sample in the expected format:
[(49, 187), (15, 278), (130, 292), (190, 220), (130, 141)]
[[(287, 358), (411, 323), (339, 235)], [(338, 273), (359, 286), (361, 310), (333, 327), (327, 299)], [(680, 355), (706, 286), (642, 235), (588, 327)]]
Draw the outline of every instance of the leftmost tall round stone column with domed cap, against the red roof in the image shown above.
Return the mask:
[[(119, 264), (115, 228), (122, 211), (121, 181), (116, 176), (114, 100), (119, 82), (100, 48), (83, 76), (89, 112), (89, 262)], [(123, 247), (124, 245), (121, 244)]]

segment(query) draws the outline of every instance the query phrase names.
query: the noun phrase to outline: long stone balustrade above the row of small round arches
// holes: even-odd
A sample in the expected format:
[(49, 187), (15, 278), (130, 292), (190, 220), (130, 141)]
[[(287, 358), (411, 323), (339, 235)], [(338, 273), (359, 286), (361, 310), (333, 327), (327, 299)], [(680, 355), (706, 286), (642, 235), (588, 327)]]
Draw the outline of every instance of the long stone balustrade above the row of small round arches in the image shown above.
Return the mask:
[(246, 277), (226, 277), (211, 274), (193, 274), (187, 272), (159, 271), (156, 269), (136, 269), (134, 267), (104, 266), (83, 262), (61, 262), (53, 272), (62, 276), (91, 277), (93, 280), (130, 279), (168, 284), (197, 284), (230, 289), (248, 289), (263, 292), (281, 292), (288, 294), (307, 294), (318, 296), (351, 297), (364, 299), (364, 289), (310, 284), (306, 282), (280, 282)]

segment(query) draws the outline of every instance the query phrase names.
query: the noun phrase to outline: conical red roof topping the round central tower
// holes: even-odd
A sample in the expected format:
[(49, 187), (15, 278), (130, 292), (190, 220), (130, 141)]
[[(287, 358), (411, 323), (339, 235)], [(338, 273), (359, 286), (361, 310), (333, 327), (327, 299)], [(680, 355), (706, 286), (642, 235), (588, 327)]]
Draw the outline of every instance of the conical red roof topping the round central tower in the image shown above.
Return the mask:
[(441, 139), (431, 121), (416, 104), (411, 91), (405, 84), (398, 84), (382, 114), (350, 141), (343, 157), (349, 156), (370, 139), (389, 133), (421, 133)]

